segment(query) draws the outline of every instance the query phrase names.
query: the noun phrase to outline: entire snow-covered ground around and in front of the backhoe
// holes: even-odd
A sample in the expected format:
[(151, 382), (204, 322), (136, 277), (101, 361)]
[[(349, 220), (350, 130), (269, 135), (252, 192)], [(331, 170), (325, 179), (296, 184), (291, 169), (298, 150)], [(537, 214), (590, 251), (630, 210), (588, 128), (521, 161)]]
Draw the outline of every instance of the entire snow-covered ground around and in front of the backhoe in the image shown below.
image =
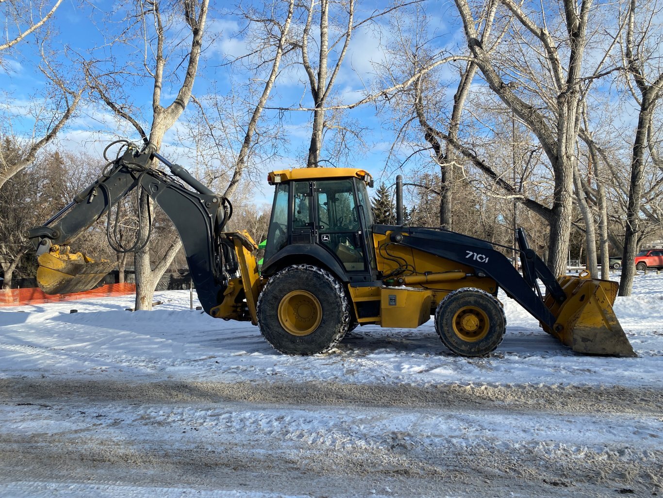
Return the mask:
[(661, 495), (663, 275), (615, 303), (638, 358), (501, 299), (479, 359), (432, 321), (288, 357), (188, 291), (0, 308), (0, 496)]

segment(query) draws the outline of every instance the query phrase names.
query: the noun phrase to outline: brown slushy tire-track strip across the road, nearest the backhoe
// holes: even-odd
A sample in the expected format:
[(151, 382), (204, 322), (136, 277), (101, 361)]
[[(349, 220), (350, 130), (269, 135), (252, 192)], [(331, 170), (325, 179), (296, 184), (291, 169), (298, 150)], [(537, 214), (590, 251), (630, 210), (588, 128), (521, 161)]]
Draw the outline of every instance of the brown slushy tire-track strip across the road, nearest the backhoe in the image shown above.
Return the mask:
[(382, 406), (455, 410), (544, 411), (588, 414), (663, 414), (663, 391), (624, 386), (502, 384), (351, 384), (346, 382), (204, 382), (0, 379), (0, 399), (72, 399), (93, 402), (250, 402), (310, 406)]

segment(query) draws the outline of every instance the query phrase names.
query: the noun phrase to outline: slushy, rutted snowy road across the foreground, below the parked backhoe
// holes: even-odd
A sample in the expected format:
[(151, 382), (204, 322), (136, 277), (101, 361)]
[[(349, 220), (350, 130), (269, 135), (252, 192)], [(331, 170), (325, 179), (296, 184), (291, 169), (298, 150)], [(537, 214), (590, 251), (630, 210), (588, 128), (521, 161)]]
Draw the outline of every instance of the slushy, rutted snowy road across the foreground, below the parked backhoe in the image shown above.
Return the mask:
[(185, 485), (468, 497), (663, 485), (660, 390), (50, 379), (0, 388), (3, 496), (44, 483), (74, 493), (72, 482), (80, 495), (105, 484), (110, 495)]

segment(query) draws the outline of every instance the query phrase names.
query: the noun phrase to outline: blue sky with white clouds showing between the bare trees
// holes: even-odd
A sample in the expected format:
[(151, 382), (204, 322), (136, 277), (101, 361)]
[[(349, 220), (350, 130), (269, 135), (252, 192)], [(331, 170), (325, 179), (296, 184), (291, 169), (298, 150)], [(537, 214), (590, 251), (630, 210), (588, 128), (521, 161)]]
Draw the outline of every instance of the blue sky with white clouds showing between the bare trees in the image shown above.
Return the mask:
[[(125, 11), (119, 11), (110, 17), (107, 17), (109, 6), (117, 6), (118, 3), (108, 3), (100, 1), (98, 5), (90, 3), (78, 4), (73, 0), (66, 0), (58, 9), (54, 19), (50, 21), (49, 26), (54, 29), (56, 34), (52, 37), (51, 46), (54, 50), (60, 50), (66, 46), (70, 55), (80, 54), (85, 58), (90, 58), (91, 53), (98, 58), (117, 58), (123, 64), (129, 62), (140, 62), (140, 53), (130, 52), (127, 46), (118, 44), (110, 45), (109, 40), (113, 35), (119, 33), (123, 27), (121, 18)], [(225, 4), (223, 4), (225, 5)], [(371, 0), (361, 3), (357, 7), (355, 19), (361, 19), (379, 9), (384, 5), (378, 0)], [(428, 46), (432, 51), (442, 50), (443, 48), (451, 52), (463, 52), (464, 39), (459, 27), (455, 7), (452, 1), (427, 1), (425, 3), (428, 16), (428, 27), (426, 28), (426, 37), (434, 40)], [(399, 16), (400, 20), (406, 18), (403, 13)], [(333, 19), (332, 19), (333, 21)], [(342, 19), (341, 19), (342, 21)], [(389, 59), (385, 51), (384, 41), (388, 35), (393, 34), (393, 19), (382, 17), (376, 23), (371, 24), (370, 29), (362, 27), (353, 34), (353, 40), (349, 46), (349, 52), (341, 66), (341, 72), (335, 84), (335, 99), (343, 103), (349, 103), (357, 100), (363, 93), (363, 90), (370, 87), (375, 82), (377, 66)], [(293, 21), (292, 29), (300, 29), (302, 19)], [(229, 66), (227, 61), (231, 58), (241, 56), (251, 49), (249, 33), (241, 31), (245, 26), (241, 17), (236, 11), (231, 11), (222, 5), (215, 5), (208, 17), (207, 38), (204, 50), (202, 64), (199, 68), (198, 78), (194, 85), (194, 95), (198, 98), (204, 98), (211, 93), (217, 93), (221, 96), (227, 96), (235, 91), (249, 102), (255, 102), (256, 97), (247, 96), (241, 93), (241, 87), (245, 82), (263, 76), (262, 74), (253, 74), (253, 72), (239, 65)], [(169, 25), (171, 31), (170, 40), (178, 40), (180, 37), (181, 21), (173, 19)], [(44, 77), (36, 68), (36, 40), (37, 37), (30, 37), (26, 42), (19, 45), (19, 49), (13, 53), (4, 55), (3, 68), (0, 69), (0, 85), (6, 92), (4, 103), (0, 104), (7, 108), (8, 120), (3, 124), (7, 129), (8, 123), (11, 124), (15, 133), (30, 135), (34, 118), (32, 114), (40, 108), (41, 100), (35, 100), (35, 96), (40, 94), (40, 88), (44, 85)], [(182, 50), (186, 48), (186, 40), (174, 50), (170, 59), (170, 68), (178, 66), (178, 54), (182, 56)], [(136, 45), (139, 49), (139, 44)], [(92, 50), (94, 48), (94, 50)], [(314, 47), (312, 47), (314, 48)], [(140, 52), (140, 50), (139, 50)], [(592, 54), (587, 54), (587, 66), (592, 60)], [(108, 66), (108, 64), (106, 64)], [(63, 72), (69, 74), (74, 83), (80, 79), (76, 72), (76, 66), (70, 62), (64, 62)], [(180, 71), (181, 73), (181, 71)], [(453, 69), (450, 67), (440, 68), (441, 78), (444, 80), (454, 79)], [(311, 106), (310, 93), (308, 88), (302, 83), (306, 81), (306, 76), (301, 66), (282, 65), (276, 87), (272, 92), (270, 106)], [(164, 104), (168, 104), (174, 95), (176, 89), (174, 84), (166, 82), (164, 88)], [(475, 80), (477, 86), (482, 85), (480, 77)], [(609, 90), (610, 82), (606, 81), (605, 87)], [(130, 94), (131, 104), (136, 106), (140, 112), (137, 113), (144, 126), (149, 127), (151, 122), (151, 80), (147, 78), (133, 78), (131, 86), (125, 84), (125, 90)], [(450, 102), (453, 89), (445, 92), (440, 98), (441, 105), (444, 107)], [(614, 88), (612, 95), (615, 96)], [(624, 107), (623, 102), (619, 104), (622, 114), (613, 118), (612, 125), (619, 125), (623, 130), (624, 138), (629, 138), (629, 130), (633, 124), (633, 106)], [(238, 111), (242, 109), (240, 104), (236, 104)], [(265, 175), (272, 169), (302, 165), (302, 158), (308, 141), (310, 140), (310, 112), (275, 112), (265, 111), (263, 117), (267, 122), (278, 121), (281, 125), (279, 130), (280, 137), (287, 141), (278, 145), (276, 155), (265, 157), (257, 165), (257, 170), (253, 179), (256, 185), (253, 188), (261, 199), (270, 197), (270, 189), (265, 185)], [(599, 116), (601, 117), (601, 116)], [(433, 168), (428, 160), (428, 153), (420, 153), (414, 159), (410, 159), (406, 164), (404, 171), (394, 171), (394, 164), (398, 159), (404, 160), (412, 149), (403, 149), (398, 151), (398, 157), (394, 163), (387, 165), (387, 158), (394, 134), (392, 133), (389, 119), (391, 114), (377, 114), (375, 104), (367, 104), (347, 112), (347, 118), (359, 123), (364, 129), (362, 132), (363, 140), (366, 143), (366, 149), (355, 146), (355, 154), (349, 159), (349, 163), (335, 163), (337, 166), (357, 166), (368, 169), (377, 178), (378, 181), (384, 180), (388, 185), (392, 183), (396, 173), (402, 172), (405, 175), (421, 171), (425, 167)], [(444, 116), (440, 118), (444, 120)], [(187, 124), (193, 120), (192, 104), (189, 105), (187, 112), (180, 118), (180, 121), (166, 134), (162, 153), (175, 161), (183, 163), (188, 167), (195, 169), (195, 159), (192, 159), (192, 141), (186, 136)], [(477, 121), (473, 122), (477, 124)], [(444, 125), (444, 123), (443, 123)], [(0, 129), (1, 129), (0, 125)], [(474, 133), (489, 133), (486, 127), (475, 128)], [(101, 154), (101, 150), (106, 143), (116, 137), (129, 137), (137, 140), (137, 134), (133, 128), (125, 122), (117, 120), (109, 109), (100, 102), (85, 102), (76, 118), (72, 119), (66, 129), (60, 134), (60, 143), (66, 147), (81, 148)], [(230, 141), (233, 153), (239, 151), (242, 133), (238, 130)], [(421, 140), (421, 137), (418, 137)], [(481, 136), (479, 136), (481, 139)]]

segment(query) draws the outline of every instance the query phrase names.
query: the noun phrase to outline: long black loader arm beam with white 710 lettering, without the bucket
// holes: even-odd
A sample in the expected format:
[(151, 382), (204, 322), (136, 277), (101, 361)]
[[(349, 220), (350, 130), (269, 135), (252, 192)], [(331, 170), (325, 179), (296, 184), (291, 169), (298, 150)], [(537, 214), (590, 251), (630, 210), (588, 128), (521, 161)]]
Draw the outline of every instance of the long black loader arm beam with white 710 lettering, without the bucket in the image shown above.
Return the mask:
[[(426, 228), (401, 228), (396, 233), (405, 234), (398, 242), (461, 264), (472, 266), (489, 276), (507, 294), (518, 301), (532, 315), (552, 327), (555, 317), (544, 305), (522, 276), (513, 268), (507, 256), (493, 249), (489, 242), (455, 232), (441, 232)], [(392, 238), (393, 241), (393, 238)]]

